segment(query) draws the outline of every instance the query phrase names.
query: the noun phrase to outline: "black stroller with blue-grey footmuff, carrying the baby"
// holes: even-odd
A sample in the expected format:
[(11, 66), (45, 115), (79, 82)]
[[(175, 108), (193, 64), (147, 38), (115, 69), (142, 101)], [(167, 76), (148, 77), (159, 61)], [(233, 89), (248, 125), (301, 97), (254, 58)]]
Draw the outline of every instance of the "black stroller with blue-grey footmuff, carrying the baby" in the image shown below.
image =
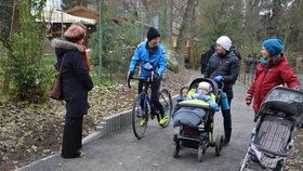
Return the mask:
[[(212, 86), (212, 93), (215, 95), (215, 102), (220, 101), (221, 91), (218, 89), (218, 84), (211, 79), (198, 78), (192, 81), (190, 89), (197, 89), (199, 82), (207, 81)], [(195, 101), (195, 100), (194, 100)], [(181, 147), (198, 149), (198, 161), (202, 161), (202, 155), (206, 153), (208, 147), (215, 147), (215, 155), (221, 155), (223, 135), (216, 135), (215, 141), (213, 140), (213, 116), (214, 111), (211, 110), (208, 103), (205, 104), (190, 104), (188, 101), (179, 103), (179, 110), (176, 115), (183, 114), (187, 119), (192, 120), (189, 123), (179, 122), (174, 118), (175, 122), (179, 122), (180, 131), (173, 135), (173, 157), (179, 157)], [(197, 114), (197, 111), (199, 114)], [(177, 114), (179, 113), (179, 114)], [(193, 113), (196, 113), (193, 115)], [(199, 117), (197, 117), (199, 116)], [(193, 123), (194, 122), (194, 123)]]

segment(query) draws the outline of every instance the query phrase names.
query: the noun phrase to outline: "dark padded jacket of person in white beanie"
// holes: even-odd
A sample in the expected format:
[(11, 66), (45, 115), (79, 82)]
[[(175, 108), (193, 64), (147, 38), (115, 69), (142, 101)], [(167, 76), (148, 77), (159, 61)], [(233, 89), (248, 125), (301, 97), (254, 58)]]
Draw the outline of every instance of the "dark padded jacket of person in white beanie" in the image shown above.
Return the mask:
[(221, 56), (216, 52), (210, 57), (207, 65), (205, 77), (213, 79), (215, 76), (222, 76), (224, 79), (223, 91), (229, 98), (233, 98), (233, 84), (235, 84), (239, 75), (239, 58), (233, 52), (228, 52), (225, 56)]

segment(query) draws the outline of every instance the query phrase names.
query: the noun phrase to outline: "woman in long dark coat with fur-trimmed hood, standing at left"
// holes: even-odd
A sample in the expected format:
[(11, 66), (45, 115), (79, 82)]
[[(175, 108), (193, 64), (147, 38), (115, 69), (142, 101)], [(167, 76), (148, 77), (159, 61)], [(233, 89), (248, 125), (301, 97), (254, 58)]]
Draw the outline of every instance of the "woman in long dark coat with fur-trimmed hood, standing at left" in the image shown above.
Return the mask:
[(73, 25), (64, 34), (63, 39), (54, 39), (57, 63), (56, 69), (62, 66), (62, 82), (64, 100), (66, 102), (66, 118), (63, 132), (63, 158), (77, 158), (81, 156), (79, 149), (82, 143), (82, 121), (87, 115), (89, 103), (88, 92), (92, 90), (93, 82), (89, 75), (89, 64), (84, 55), (83, 38), (85, 30)]

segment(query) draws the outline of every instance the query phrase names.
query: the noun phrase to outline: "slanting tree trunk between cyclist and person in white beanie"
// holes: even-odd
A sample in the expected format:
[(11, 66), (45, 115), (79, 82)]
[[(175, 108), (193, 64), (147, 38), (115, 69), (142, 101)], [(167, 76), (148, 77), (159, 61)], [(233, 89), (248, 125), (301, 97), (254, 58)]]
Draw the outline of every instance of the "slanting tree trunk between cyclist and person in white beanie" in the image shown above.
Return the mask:
[(184, 67), (184, 51), (186, 45), (186, 39), (189, 32), (190, 21), (193, 18), (193, 10), (197, 4), (197, 0), (188, 0), (183, 15), (180, 34), (176, 40), (176, 53), (180, 55), (177, 62), (180, 66)]

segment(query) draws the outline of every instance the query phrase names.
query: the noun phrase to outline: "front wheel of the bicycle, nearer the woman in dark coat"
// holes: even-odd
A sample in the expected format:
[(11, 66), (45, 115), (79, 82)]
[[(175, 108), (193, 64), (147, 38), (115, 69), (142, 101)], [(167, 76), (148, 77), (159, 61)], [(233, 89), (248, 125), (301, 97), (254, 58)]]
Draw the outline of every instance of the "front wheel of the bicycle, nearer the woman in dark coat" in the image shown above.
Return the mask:
[[(133, 103), (132, 129), (136, 139), (142, 139), (146, 133), (148, 121), (148, 104), (145, 93), (141, 93)], [(145, 120), (145, 122), (143, 121)], [(143, 123), (144, 122), (144, 123)]]

